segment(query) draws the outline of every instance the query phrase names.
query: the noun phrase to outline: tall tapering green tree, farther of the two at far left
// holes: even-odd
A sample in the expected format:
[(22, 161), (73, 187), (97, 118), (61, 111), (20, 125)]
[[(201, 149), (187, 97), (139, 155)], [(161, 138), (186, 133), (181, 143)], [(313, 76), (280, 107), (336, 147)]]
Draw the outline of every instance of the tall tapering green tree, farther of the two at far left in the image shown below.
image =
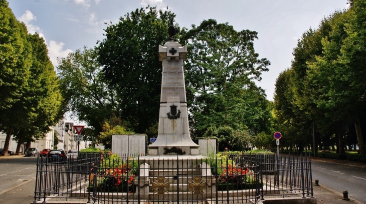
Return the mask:
[(47, 45), (38, 33), (28, 34), (27, 40), (32, 44), (32, 65), (27, 81), (27, 91), (23, 94), (22, 105), (24, 115), (22, 125), (15, 128), (14, 136), (20, 144), (30, 143), (34, 139), (44, 137), (62, 117), (62, 96), (59, 79), (48, 56)]

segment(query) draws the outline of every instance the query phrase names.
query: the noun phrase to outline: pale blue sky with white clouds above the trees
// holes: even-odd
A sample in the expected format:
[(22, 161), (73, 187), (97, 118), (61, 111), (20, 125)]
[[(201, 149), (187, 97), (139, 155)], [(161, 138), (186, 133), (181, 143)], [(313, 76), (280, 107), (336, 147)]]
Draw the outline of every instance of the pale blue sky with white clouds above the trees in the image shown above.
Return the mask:
[[(57, 57), (94, 47), (104, 39), (107, 24), (115, 24), (127, 12), (157, 6), (176, 14), (180, 27), (192, 28), (203, 20), (228, 22), (237, 31), (258, 32), (254, 47), (259, 58), (267, 58), (269, 71), (262, 73), (257, 85), (273, 100), (276, 78), (291, 66), (292, 51), (302, 33), (317, 28), (322, 18), (348, 7), (347, 0), (8, 0), (17, 19), (30, 33), (45, 38), (49, 56)], [(156, 51), (157, 47), (156, 47)]]

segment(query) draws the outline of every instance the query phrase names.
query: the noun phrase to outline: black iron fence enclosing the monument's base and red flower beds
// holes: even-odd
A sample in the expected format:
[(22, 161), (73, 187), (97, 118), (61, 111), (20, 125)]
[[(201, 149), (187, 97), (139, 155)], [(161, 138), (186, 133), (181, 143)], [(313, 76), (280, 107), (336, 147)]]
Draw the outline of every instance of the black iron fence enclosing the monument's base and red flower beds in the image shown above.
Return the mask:
[(38, 158), (35, 202), (257, 203), (291, 195), (313, 196), (310, 155), (79, 153), (66, 161)]

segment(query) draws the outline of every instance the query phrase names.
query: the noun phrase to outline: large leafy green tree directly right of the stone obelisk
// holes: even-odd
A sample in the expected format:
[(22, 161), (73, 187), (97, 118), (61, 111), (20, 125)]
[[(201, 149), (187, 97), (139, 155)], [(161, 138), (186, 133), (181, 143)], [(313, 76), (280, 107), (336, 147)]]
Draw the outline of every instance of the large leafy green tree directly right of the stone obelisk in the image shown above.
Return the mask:
[(249, 130), (250, 135), (269, 130), (269, 104), (253, 80), (261, 80), (270, 62), (258, 58), (255, 38), (255, 31), (236, 31), (214, 19), (182, 32), (189, 45), (185, 75), (196, 136), (210, 126)]

